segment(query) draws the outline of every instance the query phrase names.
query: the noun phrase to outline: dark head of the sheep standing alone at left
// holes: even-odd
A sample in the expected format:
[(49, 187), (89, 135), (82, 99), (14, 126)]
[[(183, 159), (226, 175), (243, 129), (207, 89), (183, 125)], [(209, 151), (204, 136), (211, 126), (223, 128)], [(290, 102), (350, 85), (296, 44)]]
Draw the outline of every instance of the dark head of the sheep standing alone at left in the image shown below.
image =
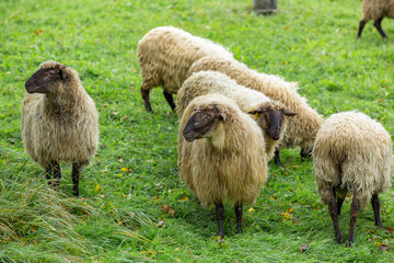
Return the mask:
[(56, 83), (67, 81), (66, 66), (55, 64), (51, 67), (39, 68), (25, 83), (28, 93), (53, 93)]

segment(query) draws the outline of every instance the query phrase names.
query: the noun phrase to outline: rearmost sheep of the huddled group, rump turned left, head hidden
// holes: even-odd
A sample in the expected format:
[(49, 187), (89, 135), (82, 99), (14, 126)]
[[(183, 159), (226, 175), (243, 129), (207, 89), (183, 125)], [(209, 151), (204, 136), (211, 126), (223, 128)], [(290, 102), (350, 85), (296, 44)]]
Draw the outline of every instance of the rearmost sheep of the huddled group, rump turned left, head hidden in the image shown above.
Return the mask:
[(220, 44), (193, 36), (190, 33), (173, 26), (160, 26), (148, 32), (137, 47), (141, 68), (141, 95), (147, 112), (152, 112), (149, 92), (159, 85), (172, 111), (175, 110), (173, 94), (176, 94), (186, 80), (189, 67), (207, 55), (233, 57)]

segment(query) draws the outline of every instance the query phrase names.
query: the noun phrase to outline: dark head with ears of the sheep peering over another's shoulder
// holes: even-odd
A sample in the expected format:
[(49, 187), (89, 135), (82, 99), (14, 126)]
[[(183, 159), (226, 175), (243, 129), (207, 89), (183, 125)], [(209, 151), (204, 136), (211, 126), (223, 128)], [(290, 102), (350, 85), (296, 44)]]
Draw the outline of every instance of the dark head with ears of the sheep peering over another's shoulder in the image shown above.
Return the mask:
[(258, 125), (274, 139), (280, 138), (280, 130), (283, 124), (285, 116), (294, 116), (297, 113), (282, 108), (262, 106), (257, 110), (248, 112), (255, 115)]

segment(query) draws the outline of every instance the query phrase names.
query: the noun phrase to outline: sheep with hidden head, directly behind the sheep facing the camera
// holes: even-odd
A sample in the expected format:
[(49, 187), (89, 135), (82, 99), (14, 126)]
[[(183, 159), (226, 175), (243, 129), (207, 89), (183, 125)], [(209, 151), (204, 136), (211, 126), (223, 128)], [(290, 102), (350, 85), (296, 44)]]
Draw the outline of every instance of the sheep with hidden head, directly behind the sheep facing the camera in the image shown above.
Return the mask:
[(202, 57), (190, 67), (187, 76), (201, 70), (215, 70), (225, 73), (237, 84), (263, 92), (273, 100), (281, 102), (288, 111), (298, 113), (289, 118), (283, 139), (275, 152), (275, 162), (281, 165), (279, 150), (301, 146), (301, 157), (310, 155), (314, 137), (323, 123), (323, 117), (311, 108), (305, 98), (298, 92), (296, 82), (287, 82), (279, 76), (266, 75), (247, 68), (232, 58), (220, 56)]

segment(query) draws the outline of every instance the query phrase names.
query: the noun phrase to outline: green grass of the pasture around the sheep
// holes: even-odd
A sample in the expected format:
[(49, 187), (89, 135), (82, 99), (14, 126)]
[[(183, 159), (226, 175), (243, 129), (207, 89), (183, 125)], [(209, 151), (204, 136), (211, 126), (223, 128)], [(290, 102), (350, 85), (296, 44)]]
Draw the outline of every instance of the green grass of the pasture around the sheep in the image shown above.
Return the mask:
[[(394, 134), (394, 21), (383, 21), (389, 41), (372, 22), (357, 41), (359, 0), (278, 3), (276, 15), (257, 16), (252, 0), (1, 1), (0, 262), (392, 262), (394, 236), (376, 230), (371, 207), (360, 213), (352, 248), (335, 242), (312, 161), (298, 149), (282, 151), (283, 170), (269, 163), (254, 210), (244, 208), (243, 235), (225, 205), (219, 243), (215, 210), (199, 207), (178, 179), (178, 123), (161, 89), (152, 91), (154, 114), (144, 112), (137, 43), (174, 25), (221, 43), (251, 68), (298, 81), (325, 116), (358, 108)], [(71, 197), (70, 165), (58, 193), (23, 151), (24, 82), (48, 59), (79, 71), (100, 112), (100, 148), (81, 198)], [(381, 203), (384, 227), (394, 227), (393, 188)], [(349, 199), (339, 224), (347, 238)], [(381, 243), (391, 251), (380, 252)]]

